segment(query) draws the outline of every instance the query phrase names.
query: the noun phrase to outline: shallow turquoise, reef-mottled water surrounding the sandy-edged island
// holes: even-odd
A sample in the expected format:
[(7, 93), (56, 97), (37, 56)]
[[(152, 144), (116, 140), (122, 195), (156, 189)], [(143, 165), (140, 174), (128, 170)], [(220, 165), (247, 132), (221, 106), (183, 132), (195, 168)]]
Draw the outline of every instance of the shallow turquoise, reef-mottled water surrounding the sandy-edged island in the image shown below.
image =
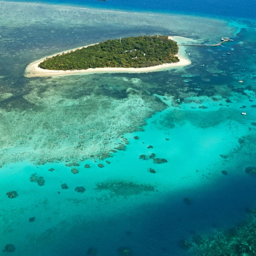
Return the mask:
[[(6, 2), (0, 15), (0, 248), (196, 255), (181, 239), (234, 227), (255, 207), (255, 177), (244, 171), (256, 166), (254, 20)], [(154, 34), (234, 41), (187, 47), (192, 64), (178, 70), (23, 76), (55, 52)], [(44, 186), (29, 180), (35, 173)]]

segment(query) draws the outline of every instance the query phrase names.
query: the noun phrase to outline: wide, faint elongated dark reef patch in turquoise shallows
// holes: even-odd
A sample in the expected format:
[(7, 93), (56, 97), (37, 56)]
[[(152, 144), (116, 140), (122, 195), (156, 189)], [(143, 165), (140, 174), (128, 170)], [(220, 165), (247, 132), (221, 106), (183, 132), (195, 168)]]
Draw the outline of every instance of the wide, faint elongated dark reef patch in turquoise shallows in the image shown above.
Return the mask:
[(96, 190), (109, 191), (111, 197), (113, 196), (131, 196), (140, 195), (146, 192), (155, 192), (155, 187), (152, 185), (136, 184), (128, 181), (106, 181), (104, 183), (97, 183)]

